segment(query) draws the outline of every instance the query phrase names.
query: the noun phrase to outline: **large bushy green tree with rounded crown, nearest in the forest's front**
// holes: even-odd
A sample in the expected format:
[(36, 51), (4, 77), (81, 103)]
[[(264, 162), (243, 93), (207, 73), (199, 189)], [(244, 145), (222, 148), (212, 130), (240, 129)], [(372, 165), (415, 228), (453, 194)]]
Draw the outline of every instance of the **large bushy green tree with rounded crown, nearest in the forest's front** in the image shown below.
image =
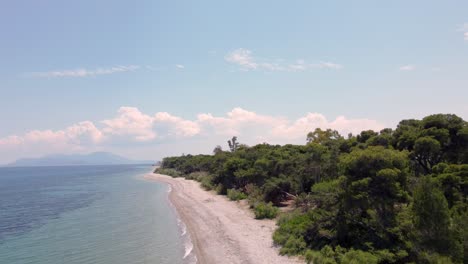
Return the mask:
[(408, 196), (407, 154), (381, 146), (368, 147), (344, 155), (341, 164), (346, 180), (337, 215), (340, 243), (395, 246), (399, 241), (397, 205)]

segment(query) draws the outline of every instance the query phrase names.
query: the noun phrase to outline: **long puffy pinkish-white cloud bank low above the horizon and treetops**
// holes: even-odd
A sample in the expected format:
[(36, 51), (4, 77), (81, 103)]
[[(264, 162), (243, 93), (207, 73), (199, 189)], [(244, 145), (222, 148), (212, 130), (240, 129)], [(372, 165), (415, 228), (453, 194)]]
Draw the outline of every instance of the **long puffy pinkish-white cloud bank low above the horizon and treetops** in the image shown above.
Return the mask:
[(224, 116), (210, 113), (198, 114), (194, 120), (158, 112), (142, 113), (135, 107), (121, 107), (112, 119), (100, 122), (101, 128), (91, 121), (83, 121), (63, 130), (32, 130), (22, 136), (0, 138), (0, 145), (51, 143), (62, 145), (88, 145), (126, 138), (129, 141), (149, 142), (168, 137), (187, 138), (212, 135), (246, 137), (261, 136), (288, 143), (291, 139), (303, 139), (315, 128), (336, 129), (342, 134), (359, 133), (362, 130), (380, 130), (384, 126), (372, 119), (349, 119), (338, 116), (328, 120), (320, 113), (306, 113), (295, 120), (282, 116), (262, 115), (242, 108), (234, 108)]

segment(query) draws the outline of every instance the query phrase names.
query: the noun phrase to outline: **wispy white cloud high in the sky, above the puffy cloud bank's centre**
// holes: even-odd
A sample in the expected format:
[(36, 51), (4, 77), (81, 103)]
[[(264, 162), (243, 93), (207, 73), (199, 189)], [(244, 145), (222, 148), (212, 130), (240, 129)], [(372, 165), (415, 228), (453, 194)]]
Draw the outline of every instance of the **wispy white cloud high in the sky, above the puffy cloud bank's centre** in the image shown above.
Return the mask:
[(283, 63), (282, 60), (269, 61), (259, 60), (252, 56), (252, 51), (248, 49), (236, 49), (226, 54), (224, 59), (231, 63), (238, 65), (241, 70), (264, 70), (264, 71), (286, 71), (286, 72), (298, 72), (306, 71), (310, 69), (333, 69), (340, 70), (343, 65), (333, 62), (318, 62), (318, 63), (307, 63), (305, 60), (297, 60), (294, 63)]

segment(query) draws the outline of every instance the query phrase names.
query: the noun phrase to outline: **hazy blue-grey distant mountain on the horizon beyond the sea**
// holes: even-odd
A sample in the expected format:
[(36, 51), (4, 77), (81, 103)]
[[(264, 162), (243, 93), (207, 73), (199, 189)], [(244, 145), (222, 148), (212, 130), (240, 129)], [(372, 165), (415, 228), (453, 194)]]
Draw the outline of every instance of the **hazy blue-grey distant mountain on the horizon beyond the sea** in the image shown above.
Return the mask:
[(19, 159), (8, 164), (9, 167), (29, 166), (73, 166), (73, 165), (117, 165), (117, 164), (153, 164), (155, 161), (131, 160), (108, 152), (90, 154), (57, 154), (41, 158)]

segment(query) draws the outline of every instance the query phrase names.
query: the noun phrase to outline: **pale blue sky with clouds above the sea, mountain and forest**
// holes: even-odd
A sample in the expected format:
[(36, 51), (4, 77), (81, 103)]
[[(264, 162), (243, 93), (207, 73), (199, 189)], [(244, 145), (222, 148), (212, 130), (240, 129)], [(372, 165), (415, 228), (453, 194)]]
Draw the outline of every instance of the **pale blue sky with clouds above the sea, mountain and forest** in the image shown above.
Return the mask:
[(0, 164), (468, 120), (468, 1), (4, 1)]

